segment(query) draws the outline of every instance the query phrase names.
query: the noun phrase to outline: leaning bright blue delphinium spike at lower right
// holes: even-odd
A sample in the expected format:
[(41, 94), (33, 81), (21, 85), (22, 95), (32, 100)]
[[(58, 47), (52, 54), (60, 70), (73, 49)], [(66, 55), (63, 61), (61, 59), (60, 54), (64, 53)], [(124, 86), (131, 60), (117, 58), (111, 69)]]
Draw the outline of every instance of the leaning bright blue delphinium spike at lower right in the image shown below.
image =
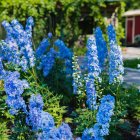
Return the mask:
[(96, 137), (103, 138), (109, 134), (109, 123), (113, 115), (115, 107), (115, 99), (111, 95), (106, 95), (101, 99), (101, 104), (96, 115), (97, 123), (94, 125), (94, 133)]

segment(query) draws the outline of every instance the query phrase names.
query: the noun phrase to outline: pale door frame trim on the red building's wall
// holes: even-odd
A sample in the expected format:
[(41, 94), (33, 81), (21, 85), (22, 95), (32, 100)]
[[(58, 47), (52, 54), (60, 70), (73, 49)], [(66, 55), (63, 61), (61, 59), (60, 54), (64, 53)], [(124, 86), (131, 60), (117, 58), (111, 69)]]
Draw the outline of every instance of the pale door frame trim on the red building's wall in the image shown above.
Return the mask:
[(127, 39), (127, 22), (128, 20), (132, 20), (132, 43), (134, 43), (134, 36), (135, 36), (135, 17), (127, 17), (126, 18), (126, 39)]

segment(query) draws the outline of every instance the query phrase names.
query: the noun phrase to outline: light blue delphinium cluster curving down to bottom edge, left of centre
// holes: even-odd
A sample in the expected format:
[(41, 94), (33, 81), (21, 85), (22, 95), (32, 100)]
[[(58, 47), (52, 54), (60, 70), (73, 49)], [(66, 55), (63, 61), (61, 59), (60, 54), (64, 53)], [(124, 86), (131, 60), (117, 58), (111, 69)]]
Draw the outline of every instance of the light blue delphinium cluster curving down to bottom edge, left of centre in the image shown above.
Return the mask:
[(38, 140), (72, 140), (72, 132), (68, 124), (62, 123), (58, 128), (53, 117), (43, 111), (43, 99), (40, 94), (32, 95), (29, 101), (29, 112), (26, 123), (36, 132)]

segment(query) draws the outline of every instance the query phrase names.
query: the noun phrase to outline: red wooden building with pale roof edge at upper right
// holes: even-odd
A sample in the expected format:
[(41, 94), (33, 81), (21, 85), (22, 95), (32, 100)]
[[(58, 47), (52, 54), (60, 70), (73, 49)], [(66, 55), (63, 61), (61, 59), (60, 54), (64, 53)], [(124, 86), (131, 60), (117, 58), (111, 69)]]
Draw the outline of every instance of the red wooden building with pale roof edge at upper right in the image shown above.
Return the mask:
[(135, 43), (134, 39), (136, 35), (140, 35), (140, 9), (131, 10), (124, 13), (126, 17), (125, 21), (125, 33), (126, 43)]

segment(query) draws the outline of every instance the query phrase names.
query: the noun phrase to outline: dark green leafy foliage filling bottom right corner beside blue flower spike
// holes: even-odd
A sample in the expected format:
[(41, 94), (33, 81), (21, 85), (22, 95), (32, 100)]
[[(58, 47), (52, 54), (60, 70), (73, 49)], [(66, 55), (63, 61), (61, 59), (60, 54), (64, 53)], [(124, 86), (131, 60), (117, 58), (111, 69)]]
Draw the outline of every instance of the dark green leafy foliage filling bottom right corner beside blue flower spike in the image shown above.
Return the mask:
[(119, 97), (116, 96), (118, 99), (110, 123), (110, 135), (107, 137), (113, 140), (123, 140), (124, 134), (127, 134), (126, 138), (132, 137), (132, 128), (136, 127), (134, 121), (140, 119), (138, 115), (140, 112), (139, 90), (130, 86), (129, 88), (120, 87), (118, 91)]

